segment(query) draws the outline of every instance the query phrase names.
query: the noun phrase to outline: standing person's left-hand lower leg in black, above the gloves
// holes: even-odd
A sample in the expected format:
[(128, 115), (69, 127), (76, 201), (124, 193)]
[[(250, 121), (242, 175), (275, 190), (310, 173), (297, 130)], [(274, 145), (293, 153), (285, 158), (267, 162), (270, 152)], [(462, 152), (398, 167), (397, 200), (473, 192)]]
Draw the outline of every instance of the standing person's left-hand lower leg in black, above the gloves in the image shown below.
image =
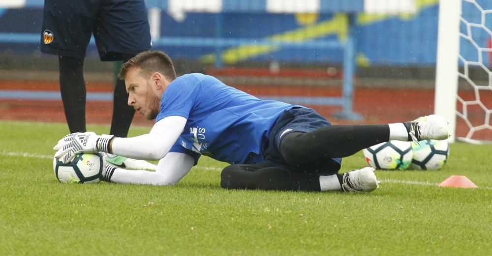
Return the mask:
[(60, 93), (70, 133), (86, 132), (84, 58), (59, 56)]

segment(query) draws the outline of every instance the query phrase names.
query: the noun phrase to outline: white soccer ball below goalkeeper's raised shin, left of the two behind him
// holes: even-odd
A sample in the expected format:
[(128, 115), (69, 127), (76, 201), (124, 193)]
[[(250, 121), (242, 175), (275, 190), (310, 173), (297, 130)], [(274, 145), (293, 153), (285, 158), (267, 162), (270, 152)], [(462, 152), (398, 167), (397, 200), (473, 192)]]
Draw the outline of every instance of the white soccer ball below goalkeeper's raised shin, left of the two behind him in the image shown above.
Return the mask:
[(370, 167), (380, 170), (405, 170), (412, 162), (410, 142), (389, 141), (362, 150)]

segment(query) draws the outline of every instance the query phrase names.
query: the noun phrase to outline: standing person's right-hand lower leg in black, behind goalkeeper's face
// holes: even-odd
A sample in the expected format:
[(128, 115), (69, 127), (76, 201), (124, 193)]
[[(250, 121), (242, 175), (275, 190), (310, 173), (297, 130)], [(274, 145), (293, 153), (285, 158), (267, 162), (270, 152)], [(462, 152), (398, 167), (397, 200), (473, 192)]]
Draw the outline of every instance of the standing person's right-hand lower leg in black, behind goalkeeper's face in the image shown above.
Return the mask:
[[(124, 55), (123, 62), (126, 62), (131, 57), (133, 56)], [(126, 93), (124, 81), (118, 79), (113, 97), (113, 117), (111, 119), (110, 134), (123, 138), (128, 136), (128, 130), (134, 114), (133, 107), (128, 106), (128, 93)]]

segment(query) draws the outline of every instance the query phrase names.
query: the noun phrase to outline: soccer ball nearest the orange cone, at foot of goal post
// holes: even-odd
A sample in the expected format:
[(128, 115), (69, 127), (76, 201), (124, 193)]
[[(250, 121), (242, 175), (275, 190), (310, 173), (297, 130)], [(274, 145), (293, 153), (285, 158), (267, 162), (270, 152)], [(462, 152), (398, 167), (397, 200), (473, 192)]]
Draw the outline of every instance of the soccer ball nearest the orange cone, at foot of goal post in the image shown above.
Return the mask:
[(411, 142), (413, 159), (409, 169), (437, 170), (444, 166), (449, 157), (448, 141), (425, 140)]

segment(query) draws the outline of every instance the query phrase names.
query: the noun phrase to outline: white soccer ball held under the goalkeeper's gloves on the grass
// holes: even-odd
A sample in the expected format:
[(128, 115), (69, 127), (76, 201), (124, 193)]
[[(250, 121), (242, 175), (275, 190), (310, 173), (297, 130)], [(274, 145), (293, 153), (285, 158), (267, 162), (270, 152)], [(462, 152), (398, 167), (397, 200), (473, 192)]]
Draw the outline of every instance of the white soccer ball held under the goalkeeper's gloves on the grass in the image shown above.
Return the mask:
[(62, 183), (96, 183), (104, 170), (104, 157), (101, 154), (77, 154), (66, 164), (53, 159), (53, 170)]

